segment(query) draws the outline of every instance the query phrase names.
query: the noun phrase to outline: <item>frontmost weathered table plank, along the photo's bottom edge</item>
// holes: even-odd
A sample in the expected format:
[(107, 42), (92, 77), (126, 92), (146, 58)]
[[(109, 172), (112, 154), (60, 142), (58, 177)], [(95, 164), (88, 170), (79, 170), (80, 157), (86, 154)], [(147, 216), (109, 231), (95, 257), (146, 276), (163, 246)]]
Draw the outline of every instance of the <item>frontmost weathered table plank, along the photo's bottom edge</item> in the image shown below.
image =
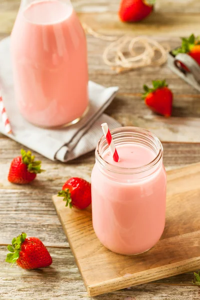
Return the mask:
[[(79, 271), (74, 264), (74, 258), (67, 248), (48, 248), (53, 263), (48, 268), (40, 270), (23, 270), (13, 265), (9, 267), (3, 261), (7, 249), (0, 246), (0, 299), (21, 300), (26, 299), (54, 300), (55, 298), (70, 300), (88, 300), (85, 287)], [(199, 289), (192, 286), (192, 273), (165, 278), (153, 283), (133, 286), (110, 294), (91, 297), (91, 300), (193, 300), (198, 298)], [(170, 281), (169, 281), (170, 280)], [(171, 282), (172, 285), (168, 285)], [(156, 284), (156, 285), (155, 285)], [(174, 285), (173, 285), (174, 284)], [(181, 285), (179, 285), (181, 284)], [(184, 286), (184, 285), (185, 286)], [(13, 288), (14, 286), (14, 288)], [(167, 295), (167, 298), (164, 298)], [(130, 300), (130, 299), (128, 299)]]

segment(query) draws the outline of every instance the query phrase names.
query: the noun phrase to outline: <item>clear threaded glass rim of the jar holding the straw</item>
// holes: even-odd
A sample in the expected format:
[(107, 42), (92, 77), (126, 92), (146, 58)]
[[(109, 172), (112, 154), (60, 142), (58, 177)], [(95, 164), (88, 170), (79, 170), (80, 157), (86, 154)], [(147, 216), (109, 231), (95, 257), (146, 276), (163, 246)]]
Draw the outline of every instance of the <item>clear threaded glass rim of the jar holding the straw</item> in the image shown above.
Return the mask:
[(101, 164), (101, 166), (106, 168), (108, 171), (115, 172), (115, 173), (122, 173), (122, 174), (140, 173), (140, 172), (149, 170), (150, 168), (155, 166), (157, 164), (157, 162), (159, 162), (160, 159), (162, 158), (162, 155), (163, 155), (162, 144), (161, 144), (160, 140), (158, 139), (158, 137), (154, 133), (150, 132), (149, 130), (140, 128), (140, 127), (134, 127), (134, 126), (118, 127), (118, 128), (110, 130), (113, 140), (115, 139), (115, 136), (117, 135), (118, 132), (123, 133), (123, 134), (124, 133), (135, 133), (135, 134), (140, 134), (140, 135), (143, 134), (143, 136), (146, 136), (149, 138), (149, 142), (150, 142), (150, 139), (153, 140), (154, 145), (156, 146), (156, 152), (155, 152), (156, 156), (149, 163), (141, 165), (139, 167), (117, 166), (115, 164), (112, 164), (112, 163), (104, 160), (104, 158), (102, 157), (102, 154), (99, 151), (100, 145), (102, 145), (103, 142), (106, 142), (105, 136), (102, 135), (96, 145), (95, 158)]

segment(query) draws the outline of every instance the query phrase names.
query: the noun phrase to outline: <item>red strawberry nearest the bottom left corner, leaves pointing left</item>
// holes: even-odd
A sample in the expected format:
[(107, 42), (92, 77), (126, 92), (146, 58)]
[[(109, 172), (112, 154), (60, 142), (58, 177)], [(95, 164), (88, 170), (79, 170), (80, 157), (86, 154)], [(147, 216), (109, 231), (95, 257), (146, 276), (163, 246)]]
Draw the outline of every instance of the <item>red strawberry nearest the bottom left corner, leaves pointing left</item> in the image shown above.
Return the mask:
[(12, 239), (12, 245), (8, 245), (6, 262), (16, 262), (18, 266), (24, 269), (35, 269), (48, 266), (52, 263), (52, 258), (37, 237), (26, 237), (26, 233), (21, 233)]

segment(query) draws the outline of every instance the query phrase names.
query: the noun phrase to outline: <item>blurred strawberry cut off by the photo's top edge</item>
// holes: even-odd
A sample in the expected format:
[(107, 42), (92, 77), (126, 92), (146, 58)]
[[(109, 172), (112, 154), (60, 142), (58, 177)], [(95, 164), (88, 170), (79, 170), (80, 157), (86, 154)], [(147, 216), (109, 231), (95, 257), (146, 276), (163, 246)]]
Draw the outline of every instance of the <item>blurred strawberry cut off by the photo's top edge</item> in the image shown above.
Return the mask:
[(121, 0), (118, 15), (121, 21), (138, 22), (153, 10), (155, 0)]

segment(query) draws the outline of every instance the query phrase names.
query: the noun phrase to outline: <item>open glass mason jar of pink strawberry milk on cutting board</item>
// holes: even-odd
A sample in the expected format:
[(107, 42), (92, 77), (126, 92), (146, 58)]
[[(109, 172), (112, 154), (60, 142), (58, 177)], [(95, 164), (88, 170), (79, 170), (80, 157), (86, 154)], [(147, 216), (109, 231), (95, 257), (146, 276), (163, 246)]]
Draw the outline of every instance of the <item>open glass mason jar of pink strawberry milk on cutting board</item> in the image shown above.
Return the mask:
[(137, 127), (116, 128), (111, 135), (120, 163), (112, 160), (102, 136), (91, 173), (93, 228), (111, 251), (138, 254), (150, 249), (164, 229), (162, 144), (154, 134)]

